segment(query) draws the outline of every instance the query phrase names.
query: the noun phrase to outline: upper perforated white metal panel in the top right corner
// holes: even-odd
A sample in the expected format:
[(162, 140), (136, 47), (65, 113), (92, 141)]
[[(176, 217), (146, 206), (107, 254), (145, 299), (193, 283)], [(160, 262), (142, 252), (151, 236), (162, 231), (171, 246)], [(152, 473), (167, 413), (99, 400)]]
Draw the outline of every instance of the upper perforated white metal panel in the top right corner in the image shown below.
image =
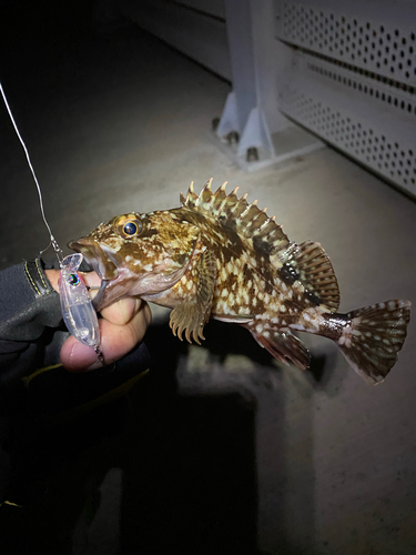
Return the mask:
[(400, 4), (394, 2), (393, 19), (390, 10), (383, 9), (387, 2), (349, 7), (332, 2), (331, 9), (319, 4), (324, 2), (284, 2), (280, 37), (357, 68), (416, 83), (415, 3), (412, 9), (409, 2), (402, 2), (400, 13)]

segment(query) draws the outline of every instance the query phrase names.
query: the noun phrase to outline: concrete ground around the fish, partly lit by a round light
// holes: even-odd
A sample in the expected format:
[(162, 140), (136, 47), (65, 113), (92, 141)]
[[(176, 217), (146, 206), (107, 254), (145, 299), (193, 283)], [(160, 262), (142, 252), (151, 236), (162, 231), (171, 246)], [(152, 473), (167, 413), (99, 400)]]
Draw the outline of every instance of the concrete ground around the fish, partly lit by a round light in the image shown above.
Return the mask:
[[(415, 304), (413, 200), (329, 148), (243, 173), (210, 131), (229, 83), (135, 28), (75, 39), (20, 52), (2, 74), (61, 245), (115, 214), (177, 206), (191, 180), (212, 176), (267, 206), (291, 240), (324, 245), (341, 311)], [(0, 119), (4, 268), (48, 235)], [(212, 322), (202, 347), (184, 345), (156, 312), (151, 373), (123, 434), (57, 471), (39, 505), (8, 513), (14, 545), (26, 535), (72, 555), (416, 553), (415, 324), (377, 387), (329, 341), (302, 339), (314, 357), (305, 373), (235, 325)]]

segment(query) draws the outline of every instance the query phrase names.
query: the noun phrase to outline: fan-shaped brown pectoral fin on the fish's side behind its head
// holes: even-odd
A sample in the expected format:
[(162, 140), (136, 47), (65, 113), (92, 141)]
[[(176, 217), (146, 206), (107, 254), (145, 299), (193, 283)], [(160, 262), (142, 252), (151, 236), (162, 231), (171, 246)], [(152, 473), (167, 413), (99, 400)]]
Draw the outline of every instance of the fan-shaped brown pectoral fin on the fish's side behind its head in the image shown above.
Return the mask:
[(202, 331), (211, 314), (215, 279), (215, 258), (205, 251), (193, 266), (189, 281), (181, 282), (184, 289), (191, 282), (189, 295), (171, 312), (170, 326), (181, 341), (183, 332), (190, 343), (194, 339), (201, 344), (200, 340), (205, 339)]

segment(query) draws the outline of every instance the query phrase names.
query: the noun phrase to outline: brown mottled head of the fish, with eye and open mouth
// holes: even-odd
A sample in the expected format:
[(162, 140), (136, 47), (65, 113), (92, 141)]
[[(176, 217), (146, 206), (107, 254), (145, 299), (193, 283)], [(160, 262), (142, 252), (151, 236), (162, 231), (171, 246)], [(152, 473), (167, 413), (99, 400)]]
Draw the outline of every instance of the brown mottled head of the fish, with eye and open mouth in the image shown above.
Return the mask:
[(175, 211), (130, 212), (68, 243), (101, 278), (98, 311), (125, 296), (155, 295), (185, 273), (199, 229)]

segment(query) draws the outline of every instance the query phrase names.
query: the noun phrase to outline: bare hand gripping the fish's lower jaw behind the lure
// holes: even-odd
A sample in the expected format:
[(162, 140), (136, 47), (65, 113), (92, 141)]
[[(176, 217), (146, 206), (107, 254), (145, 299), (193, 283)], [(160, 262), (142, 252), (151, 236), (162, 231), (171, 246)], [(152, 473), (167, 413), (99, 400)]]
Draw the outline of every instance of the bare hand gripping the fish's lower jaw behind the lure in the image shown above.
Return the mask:
[[(45, 275), (52, 287), (59, 293), (59, 270), (45, 270)], [(95, 272), (81, 272), (90, 287), (99, 286), (100, 278)], [(91, 291), (91, 297), (97, 291)], [(111, 364), (126, 355), (142, 341), (152, 315), (148, 303), (135, 296), (122, 299), (101, 311), (99, 320), (101, 335), (101, 351), (105, 364)], [(79, 342), (70, 335), (61, 349), (62, 365), (70, 372), (84, 372), (102, 366), (97, 360), (93, 349)]]

